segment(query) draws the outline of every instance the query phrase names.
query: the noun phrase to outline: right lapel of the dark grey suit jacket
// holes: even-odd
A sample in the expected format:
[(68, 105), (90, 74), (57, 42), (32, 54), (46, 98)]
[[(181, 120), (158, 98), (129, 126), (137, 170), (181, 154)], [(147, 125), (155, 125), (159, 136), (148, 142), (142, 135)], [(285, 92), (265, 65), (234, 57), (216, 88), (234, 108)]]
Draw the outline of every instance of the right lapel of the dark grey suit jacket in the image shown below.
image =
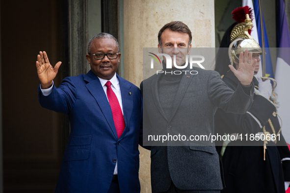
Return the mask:
[(179, 84), (179, 87), (178, 87), (178, 91), (177, 91), (175, 99), (174, 99), (174, 103), (172, 106), (171, 116), (170, 116), (169, 122), (172, 120), (172, 118), (175, 115), (181, 101), (183, 100), (185, 92), (186, 92), (186, 90), (189, 86), (189, 83), (190, 83), (191, 79), (193, 78), (193, 76), (194, 75), (192, 75), (192, 74), (188, 74), (188, 75), (183, 74), (181, 81), (180, 81), (180, 84)]

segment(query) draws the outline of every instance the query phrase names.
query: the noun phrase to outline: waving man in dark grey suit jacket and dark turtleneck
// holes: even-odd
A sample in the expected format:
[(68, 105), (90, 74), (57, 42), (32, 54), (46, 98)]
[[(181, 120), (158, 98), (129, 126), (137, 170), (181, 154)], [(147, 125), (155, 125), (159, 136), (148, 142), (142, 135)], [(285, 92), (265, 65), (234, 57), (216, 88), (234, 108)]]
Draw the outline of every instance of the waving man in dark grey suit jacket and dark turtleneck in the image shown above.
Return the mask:
[[(190, 29), (182, 22), (165, 24), (158, 34), (158, 51), (176, 59), (177, 66), (183, 66), (191, 39)], [(168, 140), (166, 146), (145, 141), (149, 134), (209, 136), (214, 133), (217, 108), (245, 113), (253, 100), (252, 77), (257, 60), (251, 65), (252, 53), (247, 51), (241, 52), (239, 59), (238, 70), (230, 66), (240, 81), (236, 92), (225, 85), (217, 72), (196, 67), (185, 69), (198, 72), (195, 75), (159, 73), (141, 83), (143, 139), (151, 145), (153, 193), (219, 193), (223, 189), (219, 157), (211, 141), (185, 140), (181, 145)], [(165, 57), (162, 63), (163, 71), (178, 70), (166, 69)]]

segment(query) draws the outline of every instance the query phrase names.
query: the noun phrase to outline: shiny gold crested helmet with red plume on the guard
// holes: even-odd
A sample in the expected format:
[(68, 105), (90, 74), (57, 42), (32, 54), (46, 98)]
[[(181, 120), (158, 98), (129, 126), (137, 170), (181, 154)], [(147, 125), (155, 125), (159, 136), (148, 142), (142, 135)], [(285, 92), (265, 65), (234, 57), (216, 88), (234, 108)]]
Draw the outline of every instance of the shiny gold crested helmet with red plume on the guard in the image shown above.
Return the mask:
[(229, 57), (231, 65), (235, 60), (238, 63), (239, 53), (244, 52), (246, 49), (253, 53), (262, 53), (259, 44), (250, 36), (253, 27), (251, 15), (252, 9), (248, 6), (238, 7), (233, 12), (233, 19), (237, 24), (231, 32), (231, 44), (229, 46)]

